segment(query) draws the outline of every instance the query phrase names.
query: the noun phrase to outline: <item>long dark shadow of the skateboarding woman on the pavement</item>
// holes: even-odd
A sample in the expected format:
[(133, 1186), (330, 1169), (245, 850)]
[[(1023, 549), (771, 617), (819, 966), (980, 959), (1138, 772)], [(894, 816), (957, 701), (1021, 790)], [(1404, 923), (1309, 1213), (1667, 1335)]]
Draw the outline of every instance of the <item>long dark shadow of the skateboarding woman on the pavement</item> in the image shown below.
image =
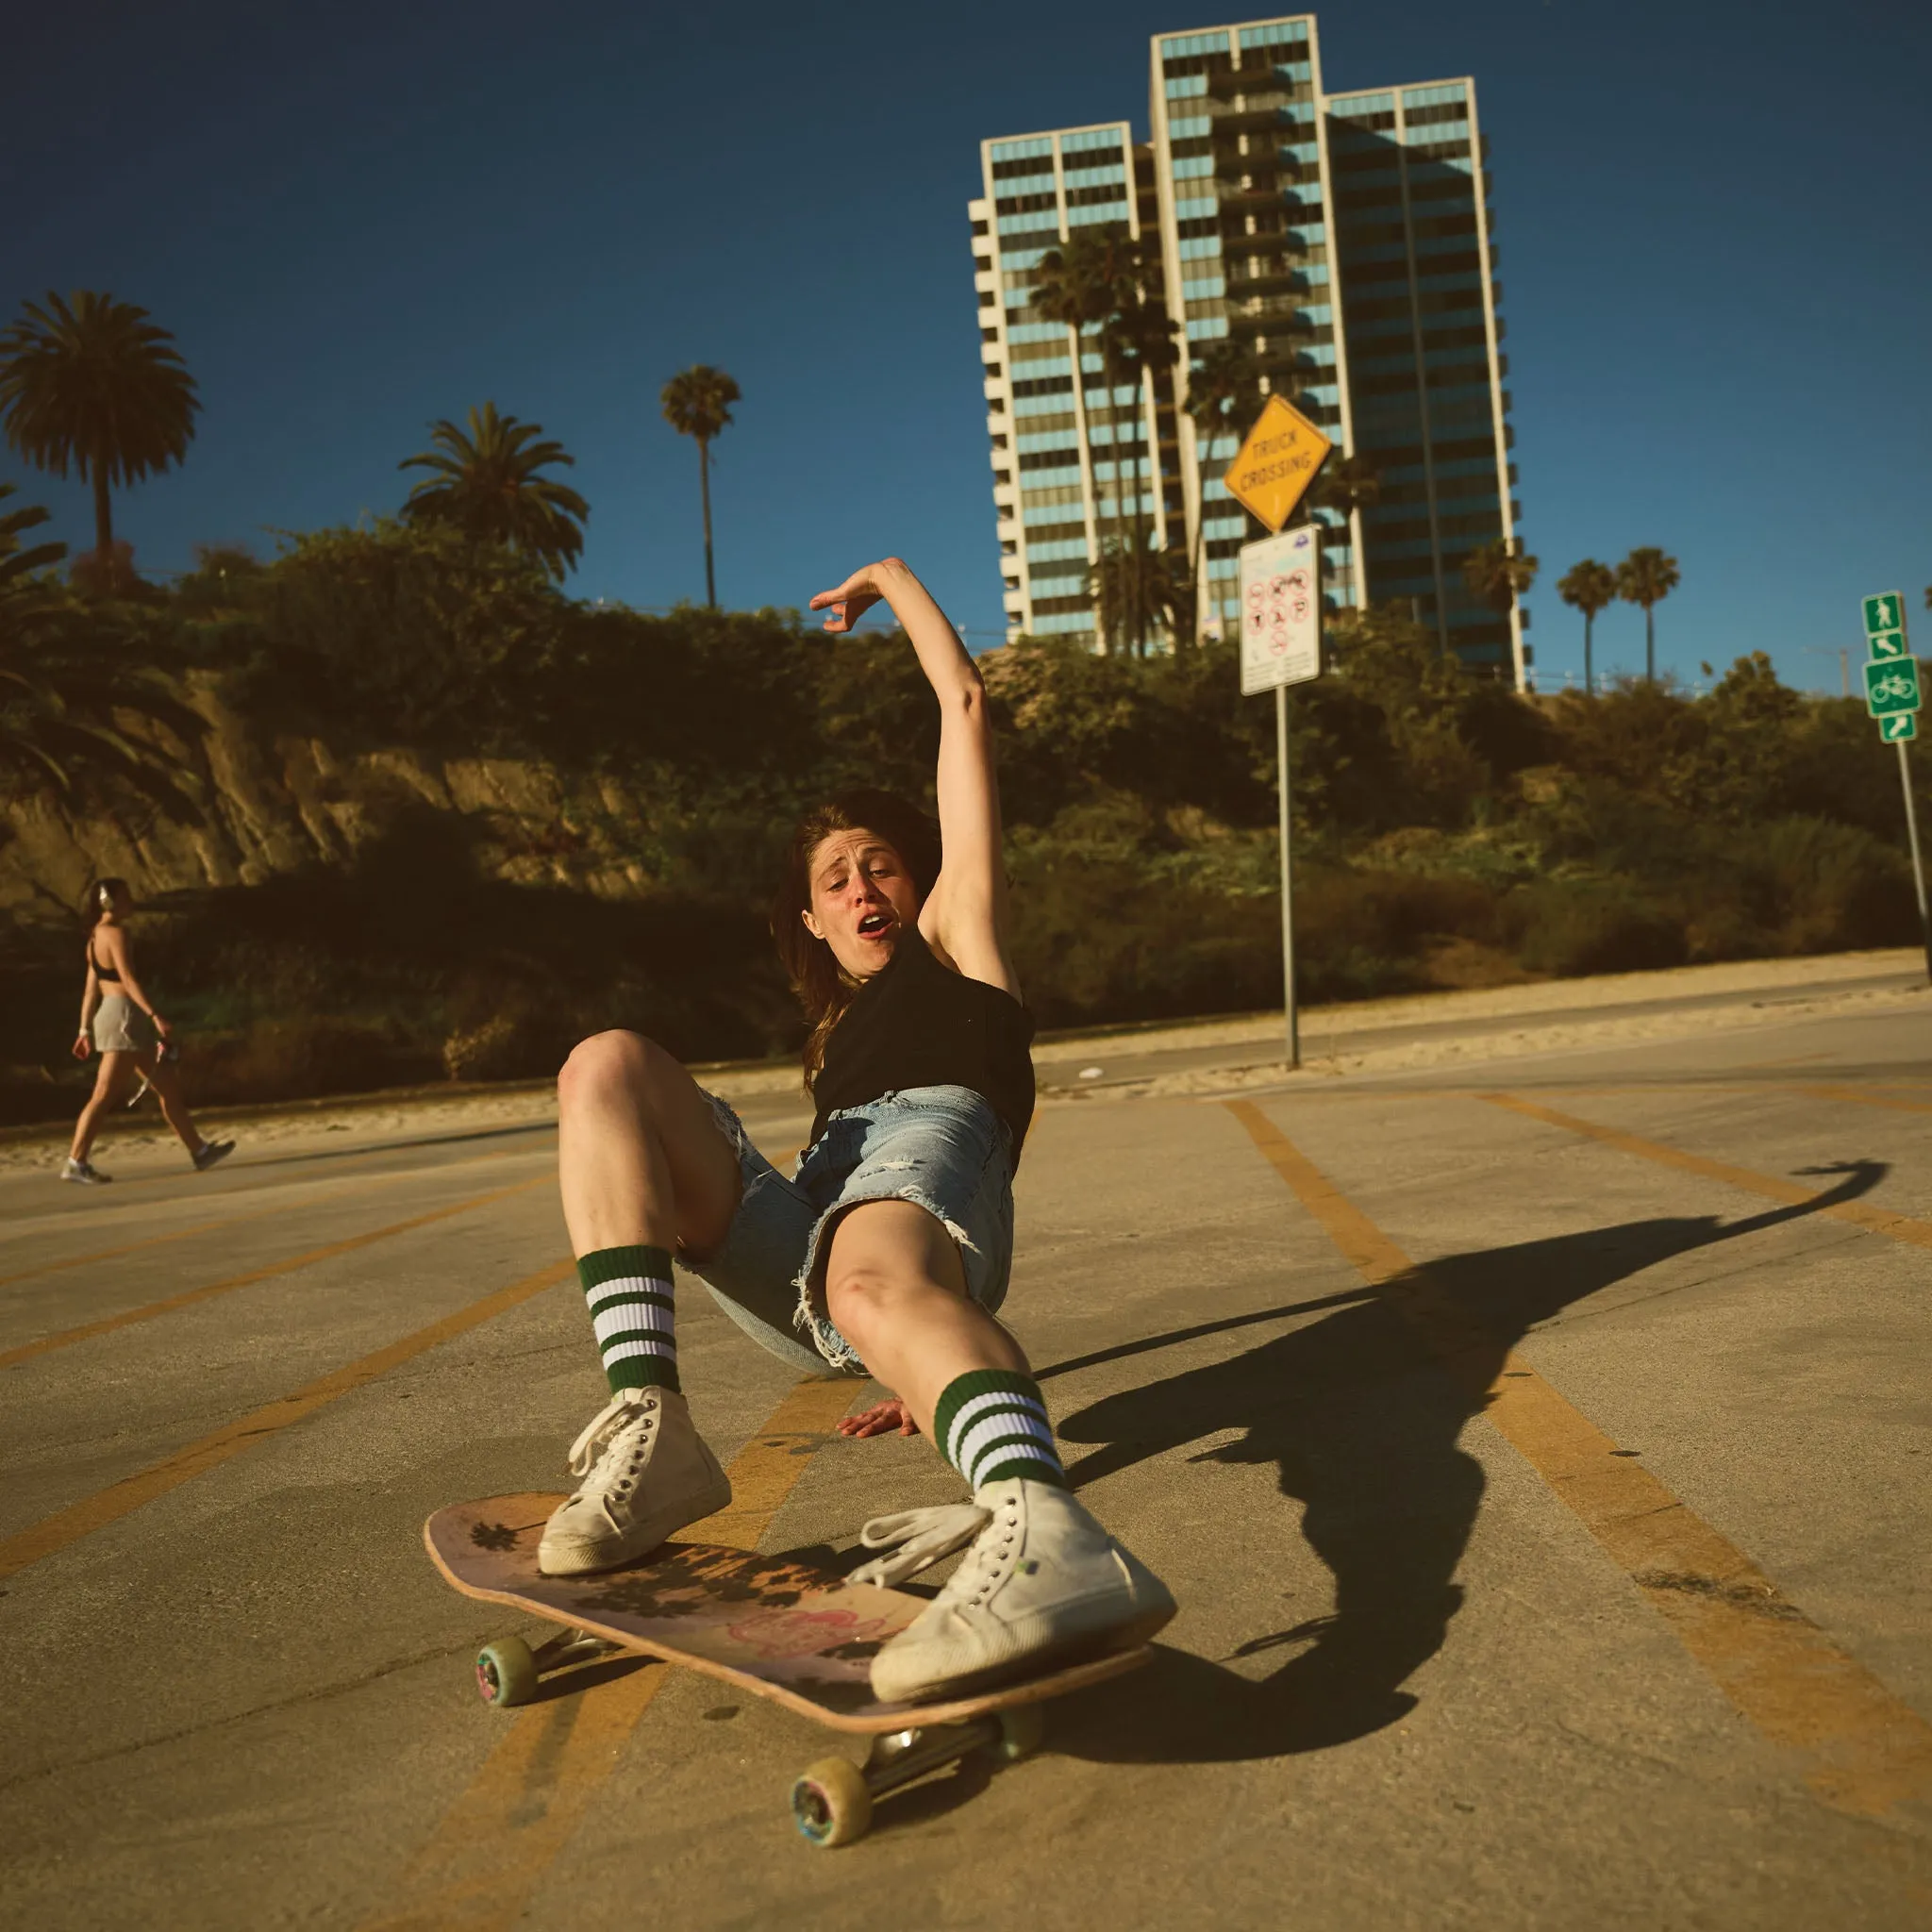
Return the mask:
[[(1482, 1505), (1482, 1466), (1459, 1437), (1482, 1412), (1482, 1391), (1509, 1349), (1538, 1321), (1646, 1267), (1868, 1194), (1888, 1167), (1847, 1161), (1812, 1173), (1843, 1179), (1808, 1202), (1743, 1221), (1625, 1221), (1428, 1262), (1370, 1291), (1366, 1302), (1337, 1296), (1354, 1306), (1244, 1354), (1066, 1416), (1065, 1441), (1103, 1445), (1072, 1464), (1076, 1488), (1204, 1435), (1244, 1430), (1240, 1441), (1194, 1461), (1277, 1466), (1283, 1495), (1304, 1505), (1302, 1532), (1335, 1575), (1335, 1609), (1240, 1644), (1236, 1658), (1306, 1646), (1262, 1679), (1161, 1648), (1140, 1677), (1068, 1698), (1055, 1748), (1109, 1762), (1271, 1758), (1364, 1737), (1412, 1710), (1416, 1698), (1403, 1685), (1443, 1646), (1463, 1602), (1455, 1571)], [(1244, 1320), (1258, 1318), (1151, 1337), (1078, 1366)], [(1236, 1524), (1223, 1534), (1221, 1567), (1252, 1584), (1267, 1565), (1265, 1538)]]

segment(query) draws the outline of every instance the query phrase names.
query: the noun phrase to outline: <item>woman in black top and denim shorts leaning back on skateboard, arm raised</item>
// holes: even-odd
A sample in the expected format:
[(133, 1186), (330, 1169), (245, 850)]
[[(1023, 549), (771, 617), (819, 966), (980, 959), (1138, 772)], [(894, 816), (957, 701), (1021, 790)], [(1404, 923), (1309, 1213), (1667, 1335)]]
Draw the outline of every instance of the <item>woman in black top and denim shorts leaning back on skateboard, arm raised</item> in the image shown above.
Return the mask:
[[(773, 1354), (871, 1374), (978, 1509), (867, 1524), (896, 1580), (972, 1540), (873, 1660), (881, 1698), (1034, 1675), (1144, 1642), (1173, 1598), (1066, 1490), (1026, 1356), (993, 1320), (1012, 1264), (1012, 1167), (1034, 1111), (1034, 1022), (1007, 956), (999, 782), (980, 672), (896, 558), (811, 599), (848, 632), (885, 599), (939, 697), (939, 838), (860, 792), (798, 829), (773, 927), (806, 1012), (817, 1103), (792, 1177), (659, 1045), (597, 1034), (556, 1082), (560, 1180), (611, 1403), (543, 1534), (549, 1575), (611, 1569), (730, 1501), (678, 1393), (672, 1254)], [(810, 1339), (810, 1347), (806, 1339)]]

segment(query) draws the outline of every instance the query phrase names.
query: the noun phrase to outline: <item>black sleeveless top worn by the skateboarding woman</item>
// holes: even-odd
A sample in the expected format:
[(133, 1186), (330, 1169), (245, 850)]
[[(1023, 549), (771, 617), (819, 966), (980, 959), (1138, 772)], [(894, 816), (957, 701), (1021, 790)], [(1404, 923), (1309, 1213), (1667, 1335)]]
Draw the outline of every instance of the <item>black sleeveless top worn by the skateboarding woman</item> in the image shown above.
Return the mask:
[(964, 1086), (1007, 1122), (1018, 1165), (1034, 1119), (1032, 1039), (1034, 1016), (1010, 993), (941, 966), (908, 925), (825, 1043), (825, 1065), (811, 1084), (819, 1109), (811, 1138), (840, 1107), (864, 1107), (904, 1088)]

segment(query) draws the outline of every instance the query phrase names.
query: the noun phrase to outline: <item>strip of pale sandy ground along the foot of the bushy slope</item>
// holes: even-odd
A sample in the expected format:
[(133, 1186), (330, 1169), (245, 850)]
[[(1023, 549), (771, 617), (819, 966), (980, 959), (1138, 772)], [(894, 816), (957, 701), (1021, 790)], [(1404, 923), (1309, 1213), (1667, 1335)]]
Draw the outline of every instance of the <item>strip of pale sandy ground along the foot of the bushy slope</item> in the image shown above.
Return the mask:
[[(1461, 993), (1422, 993), (1405, 999), (1352, 1001), (1337, 1007), (1310, 1007), (1302, 1012), (1304, 1065), (1289, 1074), (1285, 1057), (1260, 1061), (1244, 1047), (1269, 1047), (1281, 1037), (1281, 1014), (1242, 1014), (1236, 1018), (1194, 1020), (1173, 1026), (1103, 1028), (1092, 1034), (1059, 1036), (1034, 1047), (1041, 1068), (1121, 1057), (1130, 1051), (1140, 1063), (1163, 1051), (1225, 1047), (1229, 1065), (1188, 1066), (1151, 1072), (1150, 1078), (1109, 1082), (1094, 1090), (1043, 1095), (1043, 1105), (1090, 1103), (1144, 1095), (1194, 1095), (1238, 1092), (1242, 1088), (1320, 1082), (1345, 1072), (1422, 1070), (1457, 1066), (1476, 1059), (1577, 1051), (1600, 1045), (1685, 1037), (1706, 1030), (1764, 1026), (1833, 1014), (1924, 1010), (1932, 995), (1920, 985), (1872, 989), (1851, 981), (1870, 981), (1882, 974), (1911, 974), (1920, 968), (1917, 949), (1895, 947), (1874, 952), (1835, 952), (1820, 958), (1745, 960), (1723, 966), (1683, 966), (1667, 972), (1605, 974), (1592, 980), (1549, 980), (1534, 985), (1486, 987)], [(1696, 1001), (1685, 1010), (1623, 1012), (1658, 1001)], [(1577, 1018), (1577, 1009), (1602, 1009), (1592, 1018)], [(1540, 1014), (1561, 1014), (1538, 1024)], [(1428, 1037), (1381, 1039), (1350, 1047), (1352, 1037), (1387, 1036), (1408, 1026), (1426, 1028)], [(1453, 1028), (1445, 1037), (1439, 1030)], [(798, 1070), (790, 1063), (728, 1063), (694, 1068), (705, 1086), (732, 1103), (782, 1107), (806, 1101)], [(406, 1095), (346, 1097), (334, 1103), (299, 1103), (284, 1111), (238, 1109), (224, 1115), (207, 1109), (205, 1130), (232, 1134), (251, 1148), (286, 1146), (290, 1151), (327, 1144), (332, 1136), (367, 1140), (406, 1140), (489, 1132), (556, 1117), (547, 1084), (516, 1082), (500, 1088), (452, 1088)], [(0, 1171), (43, 1167), (66, 1151), (68, 1130), (14, 1130), (0, 1134)], [(114, 1159), (164, 1155), (174, 1138), (160, 1122), (153, 1099), (114, 1121), (97, 1144), (97, 1163), (112, 1171)]]

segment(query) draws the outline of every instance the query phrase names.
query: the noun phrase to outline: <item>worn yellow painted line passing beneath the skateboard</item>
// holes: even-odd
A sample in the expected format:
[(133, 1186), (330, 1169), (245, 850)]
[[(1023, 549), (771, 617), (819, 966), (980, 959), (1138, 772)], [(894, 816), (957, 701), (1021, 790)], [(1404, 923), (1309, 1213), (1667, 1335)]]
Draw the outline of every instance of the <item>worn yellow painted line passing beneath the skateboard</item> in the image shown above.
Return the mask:
[[(842, 1378), (798, 1383), (732, 1459), (730, 1507), (678, 1534), (755, 1549), (811, 1453), (850, 1410), (852, 1393)], [(518, 1712), (410, 1861), (394, 1901), (361, 1932), (506, 1932), (516, 1924), (668, 1677), (647, 1665)]]

